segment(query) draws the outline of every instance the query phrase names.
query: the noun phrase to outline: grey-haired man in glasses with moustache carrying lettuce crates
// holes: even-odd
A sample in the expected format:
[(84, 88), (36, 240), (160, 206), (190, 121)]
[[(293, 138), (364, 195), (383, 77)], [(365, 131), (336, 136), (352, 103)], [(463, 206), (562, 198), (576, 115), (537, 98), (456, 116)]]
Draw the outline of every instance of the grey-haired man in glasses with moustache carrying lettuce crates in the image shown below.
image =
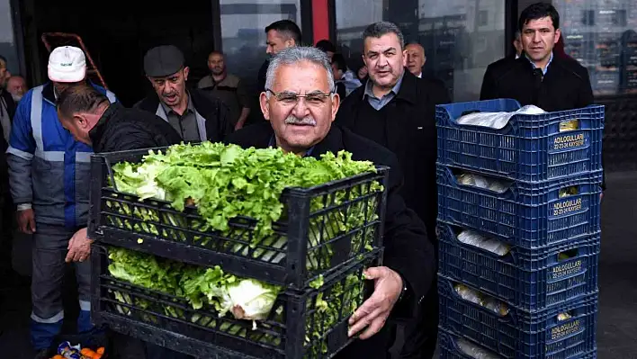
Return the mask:
[(227, 141), (244, 148), (277, 146), (299, 156), (319, 157), (345, 149), (356, 160), (390, 166), (390, 184), (384, 233), (385, 254), (381, 267), (369, 268), (374, 281), (372, 297), (349, 320), (350, 336), (361, 340), (338, 358), (387, 358), (390, 313), (411, 316), (417, 301), (426, 295), (435, 271), (435, 256), (423, 223), (408, 210), (399, 194), (402, 182), (396, 157), (386, 148), (350, 130), (332, 126), (339, 97), (327, 55), (320, 49), (284, 49), (271, 61), (266, 92), (260, 104), (263, 123), (239, 130)]

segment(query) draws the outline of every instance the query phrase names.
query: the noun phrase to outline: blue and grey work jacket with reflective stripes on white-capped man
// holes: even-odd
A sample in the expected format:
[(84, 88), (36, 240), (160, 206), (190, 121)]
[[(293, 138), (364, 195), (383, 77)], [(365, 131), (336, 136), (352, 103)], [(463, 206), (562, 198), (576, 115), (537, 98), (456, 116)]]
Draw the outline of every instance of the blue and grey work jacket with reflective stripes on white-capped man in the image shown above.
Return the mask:
[(37, 86), (18, 105), (6, 151), (11, 194), (17, 204), (31, 203), (36, 222), (74, 228), (87, 220), (93, 149), (62, 127), (52, 90)]

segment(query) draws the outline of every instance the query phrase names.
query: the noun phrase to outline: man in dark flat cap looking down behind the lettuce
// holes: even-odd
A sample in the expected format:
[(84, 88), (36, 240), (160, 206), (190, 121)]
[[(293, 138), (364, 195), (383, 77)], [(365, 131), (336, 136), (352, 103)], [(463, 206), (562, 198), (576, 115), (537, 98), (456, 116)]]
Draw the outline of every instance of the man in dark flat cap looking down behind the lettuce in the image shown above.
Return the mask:
[(173, 45), (149, 49), (144, 71), (155, 94), (135, 107), (170, 123), (184, 142), (219, 142), (232, 131), (228, 106), (201, 90), (186, 89), (190, 68), (185, 66), (180, 49)]

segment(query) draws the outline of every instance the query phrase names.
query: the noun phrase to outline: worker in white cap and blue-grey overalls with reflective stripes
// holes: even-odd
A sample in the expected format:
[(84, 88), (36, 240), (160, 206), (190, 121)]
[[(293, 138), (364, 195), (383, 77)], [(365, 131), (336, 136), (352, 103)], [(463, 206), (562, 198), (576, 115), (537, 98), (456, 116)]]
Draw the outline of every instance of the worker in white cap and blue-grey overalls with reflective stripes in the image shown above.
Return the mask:
[(20, 230), (33, 235), (31, 344), (36, 358), (48, 358), (49, 346), (64, 319), (62, 281), (65, 261), (76, 267), (80, 314), (77, 331), (90, 320), (90, 242), (75, 239), (86, 226), (92, 148), (73, 139), (58, 121), (58, 95), (69, 86), (90, 84), (109, 101), (115, 95), (85, 79), (81, 49), (64, 46), (49, 55), (49, 83), (32, 88), (18, 105), (7, 161)]

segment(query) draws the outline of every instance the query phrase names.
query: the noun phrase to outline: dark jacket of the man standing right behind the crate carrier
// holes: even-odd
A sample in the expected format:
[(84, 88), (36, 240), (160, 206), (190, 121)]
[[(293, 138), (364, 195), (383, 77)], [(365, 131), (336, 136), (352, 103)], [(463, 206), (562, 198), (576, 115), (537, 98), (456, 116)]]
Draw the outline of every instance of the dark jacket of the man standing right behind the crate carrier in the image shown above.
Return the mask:
[(336, 123), (396, 154), (405, 174), (400, 194), (425, 222), (429, 238), (435, 240), (435, 105), (451, 102), (447, 90), (441, 81), (418, 78), (405, 69), (399, 93), (381, 111), (371, 108), (363, 98), (364, 91), (362, 85), (345, 98)]

